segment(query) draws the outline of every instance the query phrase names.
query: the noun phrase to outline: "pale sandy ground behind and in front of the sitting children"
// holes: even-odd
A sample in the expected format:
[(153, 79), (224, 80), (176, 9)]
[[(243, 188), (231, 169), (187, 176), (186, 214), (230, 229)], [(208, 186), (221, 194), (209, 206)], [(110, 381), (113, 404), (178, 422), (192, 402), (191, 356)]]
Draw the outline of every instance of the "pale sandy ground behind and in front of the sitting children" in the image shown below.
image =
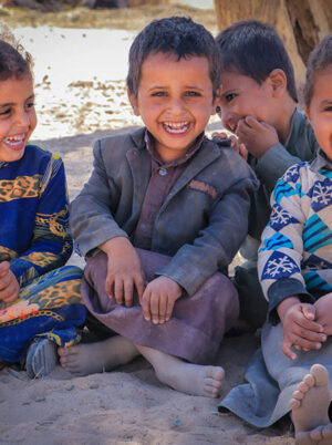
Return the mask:
[[(80, 9), (58, 15), (0, 10), (34, 55), (40, 122), (34, 141), (63, 157), (71, 198), (90, 176), (93, 141), (139, 125), (124, 81), (135, 32), (152, 18), (170, 13), (191, 15), (217, 31), (212, 10), (172, 8)], [(209, 131), (218, 127), (212, 118)], [(77, 257), (72, 262), (82, 263)], [(242, 381), (258, 344), (250, 334), (226, 338), (217, 358), (226, 369), (221, 396)], [(58, 366), (45, 379), (29, 380), (7, 368), (0, 372), (0, 444), (294, 443), (287, 428), (259, 431), (231, 414), (218, 414), (217, 403), (162, 385), (143, 359), (85, 377), (72, 377)]]

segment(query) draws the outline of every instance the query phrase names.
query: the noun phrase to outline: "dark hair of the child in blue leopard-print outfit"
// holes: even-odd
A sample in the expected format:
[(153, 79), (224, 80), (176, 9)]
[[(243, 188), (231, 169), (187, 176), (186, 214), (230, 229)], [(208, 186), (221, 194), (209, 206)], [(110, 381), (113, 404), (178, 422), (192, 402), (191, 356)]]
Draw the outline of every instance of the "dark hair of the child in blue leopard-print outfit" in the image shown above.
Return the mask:
[(6, 28), (0, 30), (0, 81), (32, 76), (32, 58)]

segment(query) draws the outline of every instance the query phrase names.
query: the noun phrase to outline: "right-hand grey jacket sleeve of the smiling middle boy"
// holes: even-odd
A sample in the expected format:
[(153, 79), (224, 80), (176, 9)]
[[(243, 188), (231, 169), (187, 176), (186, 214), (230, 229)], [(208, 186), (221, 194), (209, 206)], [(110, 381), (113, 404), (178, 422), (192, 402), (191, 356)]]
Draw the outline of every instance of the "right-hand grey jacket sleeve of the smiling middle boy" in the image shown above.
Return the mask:
[(175, 280), (188, 296), (193, 296), (215, 272), (227, 269), (247, 235), (250, 195), (259, 183), (238, 155), (231, 157), (228, 174), (234, 175), (234, 180), (216, 198), (208, 225), (193, 244), (184, 245), (157, 272)]

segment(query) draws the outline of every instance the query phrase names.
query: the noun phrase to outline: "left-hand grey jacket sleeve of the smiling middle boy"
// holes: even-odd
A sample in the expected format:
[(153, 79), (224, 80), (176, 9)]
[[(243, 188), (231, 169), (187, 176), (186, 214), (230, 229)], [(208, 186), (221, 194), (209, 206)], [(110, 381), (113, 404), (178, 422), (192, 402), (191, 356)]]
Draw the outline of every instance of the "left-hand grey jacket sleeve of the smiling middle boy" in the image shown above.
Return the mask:
[(71, 230), (82, 256), (86, 256), (107, 239), (128, 237), (112, 216), (118, 190), (105, 170), (101, 141), (94, 144), (93, 154), (92, 175), (70, 207)]

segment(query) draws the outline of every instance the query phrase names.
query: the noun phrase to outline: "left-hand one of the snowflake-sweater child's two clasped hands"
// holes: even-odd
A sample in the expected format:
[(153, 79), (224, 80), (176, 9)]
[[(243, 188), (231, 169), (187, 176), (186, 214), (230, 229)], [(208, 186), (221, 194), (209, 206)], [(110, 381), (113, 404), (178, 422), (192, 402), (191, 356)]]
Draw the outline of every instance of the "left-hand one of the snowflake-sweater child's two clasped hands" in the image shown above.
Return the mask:
[(314, 306), (292, 299), (291, 297), (283, 300), (278, 306), (278, 312), (283, 325), (282, 352), (289, 359), (295, 360), (297, 354), (291, 350), (292, 346), (304, 351), (320, 349), (322, 342), (326, 340), (326, 335), (323, 333), (323, 327), (313, 321), (315, 319)]

